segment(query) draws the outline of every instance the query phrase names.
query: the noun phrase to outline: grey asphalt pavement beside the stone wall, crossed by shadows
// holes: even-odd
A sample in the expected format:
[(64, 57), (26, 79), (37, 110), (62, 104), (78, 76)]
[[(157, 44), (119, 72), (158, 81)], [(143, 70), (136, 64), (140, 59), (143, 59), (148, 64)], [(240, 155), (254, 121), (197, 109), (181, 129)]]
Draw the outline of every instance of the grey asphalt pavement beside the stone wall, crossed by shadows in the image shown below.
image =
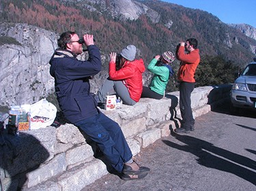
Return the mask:
[(145, 179), (123, 181), (109, 174), (90, 191), (256, 190), (256, 114), (229, 114), (229, 106), (196, 119), (195, 131), (171, 133), (137, 156), (151, 168)]

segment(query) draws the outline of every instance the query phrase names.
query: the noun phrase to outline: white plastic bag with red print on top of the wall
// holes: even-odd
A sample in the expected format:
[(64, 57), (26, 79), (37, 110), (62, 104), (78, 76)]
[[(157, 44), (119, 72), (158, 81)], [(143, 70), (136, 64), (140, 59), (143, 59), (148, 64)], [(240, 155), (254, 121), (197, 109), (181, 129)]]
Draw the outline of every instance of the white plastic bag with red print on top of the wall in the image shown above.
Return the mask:
[(57, 108), (46, 99), (33, 103), (30, 107), (30, 129), (45, 128), (53, 124)]

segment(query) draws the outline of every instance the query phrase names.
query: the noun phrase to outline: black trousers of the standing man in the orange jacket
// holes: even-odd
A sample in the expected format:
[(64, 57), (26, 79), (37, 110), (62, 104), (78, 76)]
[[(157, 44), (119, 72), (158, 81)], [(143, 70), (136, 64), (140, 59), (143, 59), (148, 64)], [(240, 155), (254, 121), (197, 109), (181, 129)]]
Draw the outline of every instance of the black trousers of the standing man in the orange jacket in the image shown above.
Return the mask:
[(190, 99), (194, 88), (195, 83), (180, 82), (180, 113), (182, 114), (182, 127), (187, 130), (195, 124)]

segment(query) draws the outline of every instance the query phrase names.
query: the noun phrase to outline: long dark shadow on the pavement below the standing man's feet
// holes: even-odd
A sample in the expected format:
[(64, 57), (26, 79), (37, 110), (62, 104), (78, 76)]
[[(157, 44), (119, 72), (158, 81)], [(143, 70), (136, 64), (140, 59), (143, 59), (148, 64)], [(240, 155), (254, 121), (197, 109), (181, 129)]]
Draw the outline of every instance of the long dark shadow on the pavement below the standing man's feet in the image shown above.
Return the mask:
[(177, 150), (183, 150), (194, 154), (198, 157), (197, 162), (205, 167), (233, 173), (256, 185), (256, 173), (250, 170), (256, 170), (256, 162), (254, 160), (216, 147), (212, 143), (195, 137), (178, 135), (173, 131), (171, 132), (171, 135), (175, 137), (175, 139), (186, 143), (186, 145), (178, 145), (177, 143), (167, 140), (162, 140), (163, 143)]

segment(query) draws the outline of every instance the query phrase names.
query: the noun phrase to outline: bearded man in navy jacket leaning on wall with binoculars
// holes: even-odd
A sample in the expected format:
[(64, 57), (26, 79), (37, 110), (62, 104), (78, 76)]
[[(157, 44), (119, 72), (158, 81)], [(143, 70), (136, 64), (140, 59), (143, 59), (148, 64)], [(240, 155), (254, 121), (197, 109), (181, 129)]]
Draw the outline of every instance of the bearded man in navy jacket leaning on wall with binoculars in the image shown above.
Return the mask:
[[(76, 56), (87, 46), (89, 58), (82, 61)], [(50, 60), (50, 73), (55, 78), (55, 92), (63, 116), (95, 141), (112, 167), (125, 180), (141, 179), (149, 173), (132, 160), (132, 152), (122, 130), (97, 108), (90, 94), (89, 80), (101, 69), (100, 51), (94, 45), (93, 35), (83, 35), (83, 40), (71, 31), (62, 33), (57, 50)]]

